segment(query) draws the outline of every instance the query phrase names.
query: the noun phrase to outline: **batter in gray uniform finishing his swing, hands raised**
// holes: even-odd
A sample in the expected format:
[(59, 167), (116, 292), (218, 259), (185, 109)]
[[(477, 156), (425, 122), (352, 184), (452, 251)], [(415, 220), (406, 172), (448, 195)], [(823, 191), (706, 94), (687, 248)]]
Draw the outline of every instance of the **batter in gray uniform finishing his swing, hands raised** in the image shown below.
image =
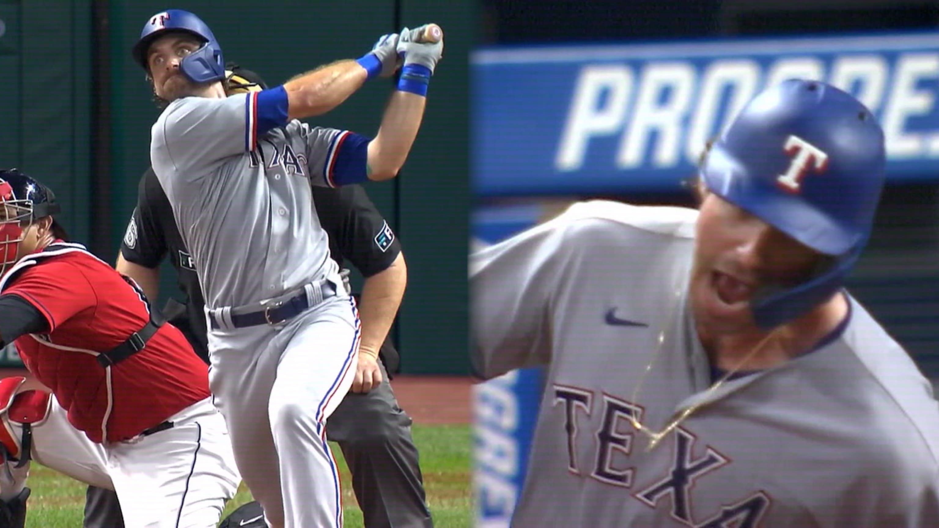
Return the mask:
[[(352, 383), (360, 331), (310, 184), (396, 176), (443, 49), (423, 35), (406, 29), (359, 60), (228, 98), (222, 50), (192, 13), (154, 15), (133, 48), (157, 97), (169, 101), (150, 158), (205, 295), (212, 393), (240, 473), (273, 527), (342, 525), (324, 425)], [(399, 66), (374, 139), (297, 120)]]

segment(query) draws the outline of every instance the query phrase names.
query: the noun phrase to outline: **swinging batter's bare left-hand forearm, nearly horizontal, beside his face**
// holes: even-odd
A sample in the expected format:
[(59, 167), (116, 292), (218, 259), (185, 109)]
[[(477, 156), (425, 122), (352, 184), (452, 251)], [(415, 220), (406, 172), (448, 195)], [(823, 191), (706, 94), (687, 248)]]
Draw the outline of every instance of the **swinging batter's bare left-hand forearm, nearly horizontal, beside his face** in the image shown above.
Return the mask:
[(362, 87), (368, 72), (354, 60), (340, 60), (294, 77), (284, 84), (287, 118), (326, 114)]

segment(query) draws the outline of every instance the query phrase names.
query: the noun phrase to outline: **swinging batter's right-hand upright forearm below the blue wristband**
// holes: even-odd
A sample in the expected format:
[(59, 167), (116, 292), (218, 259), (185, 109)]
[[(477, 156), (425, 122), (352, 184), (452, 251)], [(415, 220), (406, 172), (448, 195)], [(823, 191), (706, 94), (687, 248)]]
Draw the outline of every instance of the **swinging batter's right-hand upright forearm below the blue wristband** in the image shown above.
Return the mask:
[(426, 101), (425, 97), (410, 92), (393, 93), (381, 127), (368, 145), (369, 179), (380, 181), (397, 176), (421, 128)]

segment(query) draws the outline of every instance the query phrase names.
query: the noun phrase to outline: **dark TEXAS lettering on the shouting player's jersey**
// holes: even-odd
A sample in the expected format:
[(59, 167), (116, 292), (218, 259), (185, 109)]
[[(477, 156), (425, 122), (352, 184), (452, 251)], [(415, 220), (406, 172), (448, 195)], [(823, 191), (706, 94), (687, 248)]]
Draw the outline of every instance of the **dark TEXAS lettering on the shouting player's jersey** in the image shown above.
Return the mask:
[[(693, 519), (691, 504), (699, 479), (711, 476), (712, 484), (719, 486), (719, 470), (732, 461), (711, 445), (698, 445), (694, 434), (684, 427), (670, 433), (675, 438), (669, 473), (652, 485), (636, 489), (638, 470), (628, 463), (636, 433), (630, 418), (641, 422), (642, 408), (618, 396), (559, 383), (552, 383), (551, 391), (554, 407), (564, 415), (563, 430), (558, 432), (567, 437), (567, 470), (574, 477), (627, 489), (633, 500), (650, 508), (667, 501), (674, 520), (695, 528), (756, 528), (769, 510), (769, 496), (754, 491), (720, 507), (706, 519)], [(593, 435), (593, 457), (577, 458), (578, 435)], [(652, 477), (640, 476), (643, 481)]]

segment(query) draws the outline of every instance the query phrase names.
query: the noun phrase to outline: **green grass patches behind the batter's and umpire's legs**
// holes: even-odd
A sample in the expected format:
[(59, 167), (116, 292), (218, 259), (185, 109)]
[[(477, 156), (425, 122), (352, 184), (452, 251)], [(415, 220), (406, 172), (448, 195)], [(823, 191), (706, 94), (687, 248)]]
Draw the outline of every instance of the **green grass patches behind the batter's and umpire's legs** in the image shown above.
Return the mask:
[[(414, 442), (421, 454), (421, 471), (427, 504), (437, 528), (469, 528), (472, 526), (472, 492), (470, 488), (471, 443), (468, 426), (414, 426)], [(342, 471), (343, 504), (346, 528), (362, 527), (362, 512), (356, 504), (349, 473), (342, 451), (332, 444)], [(26, 528), (76, 528), (82, 526), (85, 507), (85, 484), (33, 464), (28, 486), (29, 498)], [(239, 505), (251, 501), (242, 485), (238, 495), (225, 508), (227, 516)]]

